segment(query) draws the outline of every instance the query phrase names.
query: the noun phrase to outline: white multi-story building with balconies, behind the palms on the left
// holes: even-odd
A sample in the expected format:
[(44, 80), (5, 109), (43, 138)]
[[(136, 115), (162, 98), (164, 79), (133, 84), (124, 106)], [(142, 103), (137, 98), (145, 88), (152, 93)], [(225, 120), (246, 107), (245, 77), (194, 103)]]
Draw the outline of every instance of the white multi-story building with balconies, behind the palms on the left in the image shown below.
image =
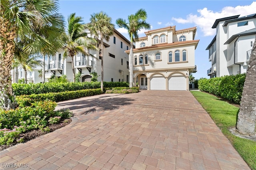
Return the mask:
[[(88, 32), (90, 36), (90, 32)], [(100, 47), (98, 41), (97, 47)], [(117, 30), (110, 36), (108, 42), (104, 41), (104, 81), (127, 81), (129, 82), (128, 70), (128, 54), (124, 51), (129, 49), (130, 41), (127, 40)], [(90, 50), (89, 53), (93, 56), (85, 56), (78, 53), (74, 56), (74, 68), (76, 73), (81, 73), (80, 81), (90, 81), (91, 72), (96, 72), (98, 81), (101, 80), (101, 52)], [(73, 81), (71, 58), (63, 58), (64, 51), (60, 50), (55, 56), (48, 59), (48, 71), (51, 75), (61, 76), (66, 75), (69, 81)], [(51, 76), (49, 75), (49, 77)], [(47, 77), (47, 78), (49, 78)]]

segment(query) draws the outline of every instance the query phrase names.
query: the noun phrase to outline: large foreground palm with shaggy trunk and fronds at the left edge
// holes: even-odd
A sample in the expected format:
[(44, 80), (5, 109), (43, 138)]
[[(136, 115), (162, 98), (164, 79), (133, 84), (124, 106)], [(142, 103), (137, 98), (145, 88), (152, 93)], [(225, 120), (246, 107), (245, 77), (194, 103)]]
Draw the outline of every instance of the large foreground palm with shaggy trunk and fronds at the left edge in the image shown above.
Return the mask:
[(26, 53), (40, 51), (40, 47), (48, 42), (34, 32), (35, 26), (48, 22), (40, 16), (48, 16), (57, 10), (56, 0), (0, 0), (0, 108), (9, 110), (17, 106), (11, 77), (15, 40), (29, 37), (37, 43), (28, 43), (24, 47)]

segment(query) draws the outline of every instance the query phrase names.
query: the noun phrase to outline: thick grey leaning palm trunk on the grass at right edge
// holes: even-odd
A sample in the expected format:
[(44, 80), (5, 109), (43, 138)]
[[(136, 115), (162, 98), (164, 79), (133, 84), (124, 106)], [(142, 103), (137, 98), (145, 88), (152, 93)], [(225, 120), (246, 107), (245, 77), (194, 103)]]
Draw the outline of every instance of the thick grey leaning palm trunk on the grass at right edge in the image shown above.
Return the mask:
[(248, 64), (236, 130), (240, 134), (256, 133), (256, 36)]

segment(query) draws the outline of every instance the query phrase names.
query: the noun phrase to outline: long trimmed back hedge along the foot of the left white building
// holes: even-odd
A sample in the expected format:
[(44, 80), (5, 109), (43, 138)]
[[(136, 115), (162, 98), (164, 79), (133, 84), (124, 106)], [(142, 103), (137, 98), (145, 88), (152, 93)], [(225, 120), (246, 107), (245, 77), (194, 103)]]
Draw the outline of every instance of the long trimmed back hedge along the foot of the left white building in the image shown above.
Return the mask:
[[(127, 82), (103, 82), (103, 87), (129, 87)], [(77, 91), (84, 89), (98, 89), (100, 82), (80, 82), (80, 83), (13, 83), (12, 88), (16, 96), (42, 93), (58, 93), (64, 91)]]

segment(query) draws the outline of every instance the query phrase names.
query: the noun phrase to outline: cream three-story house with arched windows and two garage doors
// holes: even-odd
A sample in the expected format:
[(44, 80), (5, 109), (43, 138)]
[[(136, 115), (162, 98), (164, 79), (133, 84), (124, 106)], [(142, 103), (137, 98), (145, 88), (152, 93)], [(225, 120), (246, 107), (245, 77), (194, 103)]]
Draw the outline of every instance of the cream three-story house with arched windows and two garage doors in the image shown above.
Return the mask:
[(176, 30), (169, 26), (145, 34), (133, 50), (134, 85), (148, 90), (189, 90), (188, 76), (197, 71), (196, 27)]

